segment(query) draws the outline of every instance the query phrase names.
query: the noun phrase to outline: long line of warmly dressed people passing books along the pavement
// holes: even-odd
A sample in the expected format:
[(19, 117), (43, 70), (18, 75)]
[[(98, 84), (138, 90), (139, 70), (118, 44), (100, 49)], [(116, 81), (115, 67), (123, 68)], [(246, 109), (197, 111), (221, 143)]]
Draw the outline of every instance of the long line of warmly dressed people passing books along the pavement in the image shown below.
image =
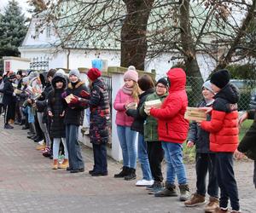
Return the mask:
[[(108, 176), (106, 146), (110, 131), (110, 107), (107, 86), (101, 75), (96, 68), (87, 72), (90, 82), (88, 89), (81, 81), (78, 70), (70, 71), (68, 78), (63, 72), (50, 70), (38, 99), (33, 99), (26, 91), (30, 75), (27, 79), (23, 78), (24, 88), (20, 94), (25, 93), (26, 99), (22, 103), (21, 112), (25, 113), (26, 123), (30, 124), (31, 135), (38, 135), (36, 123), (39, 124), (46, 141), (46, 145), (41, 144), (39, 149), (44, 148), (43, 154), (47, 157), (51, 155), (51, 149), (53, 150), (55, 170), (65, 168), (71, 173), (84, 171), (78, 135), (79, 125), (84, 121), (84, 109), (89, 108), (90, 142), (94, 153), (94, 167), (89, 173), (91, 176)], [(3, 97), (15, 96), (14, 90), (9, 89), (14, 79), (10, 75), (4, 83), (4, 89), (0, 90)], [(242, 153), (253, 155), (255, 122), (246, 135), (247, 139), (243, 140), (245, 142), (238, 147), (237, 102), (240, 95), (236, 86), (230, 83), (230, 73), (227, 70), (213, 73), (211, 79), (202, 85), (203, 100), (197, 107), (206, 111), (207, 121), (194, 121), (189, 124), (184, 118), (188, 107), (185, 85), (186, 74), (181, 68), (170, 69), (166, 78), (160, 78), (154, 83), (149, 75), (144, 74), (139, 78), (136, 68), (128, 67), (124, 74), (124, 86), (119, 89), (113, 102), (113, 108), (117, 111), (115, 124), (123, 154), (122, 170), (114, 178), (124, 178), (126, 181), (136, 179), (138, 158), (143, 178), (136, 182), (136, 186), (146, 187), (149, 194), (154, 194), (155, 197), (177, 197), (177, 178), (179, 200), (186, 206), (205, 204), (208, 193), (206, 212), (230, 212), (229, 200), (231, 212), (241, 212), (233, 170), (233, 154), (236, 153), (240, 158)], [(6, 92), (7, 88), (11, 92)], [(72, 98), (67, 101), (70, 95)], [(160, 108), (146, 107), (146, 101), (154, 100), (162, 102)], [(8, 104), (5, 106), (5, 114), (9, 115)], [(253, 118), (253, 113), (256, 114), (255, 110), (245, 113), (239, 123), (246, 118)], [(7, 116), (7, 120), (8, 118), (10, 116)], [(65, 157), (62, 164), (59, 164), (61, 141)], [(196, 192), (192, 195), (183, 164), (184, 141), (187, 147), (195, 146), (196, 152)], [(237, 147), (239, 151), (236, 150)], [(161, 170), (164, 158), (165, 183)]]

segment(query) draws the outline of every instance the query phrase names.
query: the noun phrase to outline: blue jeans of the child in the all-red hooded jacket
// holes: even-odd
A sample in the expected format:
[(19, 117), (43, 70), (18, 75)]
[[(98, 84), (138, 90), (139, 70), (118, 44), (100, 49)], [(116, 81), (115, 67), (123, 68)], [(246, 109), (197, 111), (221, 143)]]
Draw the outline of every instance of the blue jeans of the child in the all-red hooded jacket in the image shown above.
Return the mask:
[(162, 141), (167, 164), (166, 181), (174, 184), (175, 177), (179, 185), (187, 184), (185, 166), (183, 164), (182, 144)]

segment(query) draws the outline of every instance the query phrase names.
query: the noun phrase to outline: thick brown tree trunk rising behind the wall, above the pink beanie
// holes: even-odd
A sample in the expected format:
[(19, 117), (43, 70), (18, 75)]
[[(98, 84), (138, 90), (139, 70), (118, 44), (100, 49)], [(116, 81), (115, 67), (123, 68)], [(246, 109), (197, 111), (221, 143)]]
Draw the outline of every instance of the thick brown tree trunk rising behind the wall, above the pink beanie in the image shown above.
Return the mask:
[(154, 0), (123, 0), (127, 15), (121, 29), (121, 66), (144, 70), (148, 17)]

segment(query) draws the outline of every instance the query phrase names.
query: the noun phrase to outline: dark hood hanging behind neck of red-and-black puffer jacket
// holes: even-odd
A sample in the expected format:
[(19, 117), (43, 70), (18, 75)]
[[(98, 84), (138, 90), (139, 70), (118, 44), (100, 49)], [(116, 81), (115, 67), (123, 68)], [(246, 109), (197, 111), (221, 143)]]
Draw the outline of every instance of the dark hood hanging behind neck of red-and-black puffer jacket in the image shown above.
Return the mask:
[(215, 95), (214, 99), (216, 98), (223, 98), (232, 104), (236, 104), (240, 99), (240, 91), (234, 84), (228, 83)]

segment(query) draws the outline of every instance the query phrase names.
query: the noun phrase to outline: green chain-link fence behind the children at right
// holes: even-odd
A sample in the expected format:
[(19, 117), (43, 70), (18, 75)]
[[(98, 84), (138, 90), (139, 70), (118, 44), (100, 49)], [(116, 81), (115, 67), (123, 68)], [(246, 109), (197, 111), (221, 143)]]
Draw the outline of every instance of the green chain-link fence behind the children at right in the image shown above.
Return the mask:
[[(238, 101), (238, 110), (245, 111), (250, 109), (252, 101), (256, 98), (256, 81), (249, 79), (231, 79), (231, 83), (235, 84), (240, 90), (241, 97)], [(201, 101), (201, 78), (187, 77), (186, 90), (189, 98), (189, 107), (195, 107)], [(255, 100), (256, 101), (256, 100)]]

